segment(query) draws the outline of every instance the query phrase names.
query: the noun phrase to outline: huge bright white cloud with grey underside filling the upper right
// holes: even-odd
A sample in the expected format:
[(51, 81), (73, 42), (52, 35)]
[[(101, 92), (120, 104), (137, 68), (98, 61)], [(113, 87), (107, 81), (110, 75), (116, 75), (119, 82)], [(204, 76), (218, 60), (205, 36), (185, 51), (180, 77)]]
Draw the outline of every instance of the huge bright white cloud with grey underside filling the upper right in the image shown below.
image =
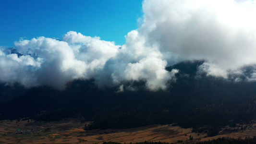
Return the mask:
[(209, 74), (226, 77), (256, 62), (253, 0), (145, 0), (143, 12), (140, 33), (170, 64), (204, 59)]

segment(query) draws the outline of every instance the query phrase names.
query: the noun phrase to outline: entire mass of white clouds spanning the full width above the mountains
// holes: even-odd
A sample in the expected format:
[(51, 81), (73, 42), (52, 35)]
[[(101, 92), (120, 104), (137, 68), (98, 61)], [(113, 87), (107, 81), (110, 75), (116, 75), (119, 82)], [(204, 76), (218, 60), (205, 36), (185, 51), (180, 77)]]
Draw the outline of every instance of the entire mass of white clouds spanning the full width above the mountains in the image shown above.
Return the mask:
[[(15, 42), (22, 55), (0, 47), (0, 82), (63, 89), (69, 81), (94, 78), (98, 86), (119, 86), (118, 92), (135, 81), (156, 91), (179, 72), (166, 66), (182, 60), (206, 60), (199, 72), (224, 78), (241, 77), (244, 66), (256, 64), (253, 0), (145, 0), (143, 12), (141, 26), (122, 46), (70, 31), (62, 40)], [(246, 79), (256, 80), (256, 71)]]

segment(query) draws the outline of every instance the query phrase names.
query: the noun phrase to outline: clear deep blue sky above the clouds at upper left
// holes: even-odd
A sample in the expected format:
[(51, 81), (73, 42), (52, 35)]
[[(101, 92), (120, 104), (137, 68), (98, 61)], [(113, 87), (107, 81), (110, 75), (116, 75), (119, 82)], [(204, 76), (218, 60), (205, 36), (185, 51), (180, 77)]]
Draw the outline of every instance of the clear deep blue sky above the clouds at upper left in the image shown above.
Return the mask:
[(122, 45), (142, 16), (142, 0), (0, 0), (0, 46), (68, 31)]

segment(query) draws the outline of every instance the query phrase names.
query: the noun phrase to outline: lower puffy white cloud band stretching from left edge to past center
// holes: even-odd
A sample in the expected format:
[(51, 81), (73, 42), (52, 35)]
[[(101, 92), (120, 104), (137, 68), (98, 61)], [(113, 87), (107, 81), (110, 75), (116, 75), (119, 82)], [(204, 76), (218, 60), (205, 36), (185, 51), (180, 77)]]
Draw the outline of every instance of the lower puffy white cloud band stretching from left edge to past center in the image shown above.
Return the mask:
[(62, 41), (44, 36), (22, 39), (15, 42), (20, 56), (0, 50), (0, 81), (63, 89), (69, 81), (94, 78), (99, 86), (120, 85), (122, 92), (123, 84), (142, 80), (149, 90), (165, 89), (173, 74), (165, 70), (167, 62), (158, 58), (160, 53), (146, 49), (137, 31), (129, 33), (127, 41), (131, 42), (120, 49), (114, 42), (73, 31)]

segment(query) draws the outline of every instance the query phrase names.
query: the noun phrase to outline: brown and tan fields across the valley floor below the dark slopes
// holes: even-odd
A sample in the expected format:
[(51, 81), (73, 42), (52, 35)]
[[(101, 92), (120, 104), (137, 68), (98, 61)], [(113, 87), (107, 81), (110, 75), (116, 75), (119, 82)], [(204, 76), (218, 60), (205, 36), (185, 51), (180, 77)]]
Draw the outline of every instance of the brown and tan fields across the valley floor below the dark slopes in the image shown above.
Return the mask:
[[(90, 130), (84, 131), (85, 124), (76, 119), (68, 119), (54, 122), (35, 121), (0, 121), (0, 144), (93, 144), (103, 142), (169, 142), (169, 143), (193, 143), (207, 141), (219, 137), (245, 138), (256, 136), (256, 124), (251, 124), (244, 131), (232, 132), (207, 137), (206, 133), (195, 133), (192, 129), (183, 129), (171, 125), (150, 125), (146, 127), (117, 130)], [(225, 128), (223, 128), (224, 130)], [(235, 128), (234, 128), (235, 129)], [(193, 140), (190, 139), (193, 137)]]

